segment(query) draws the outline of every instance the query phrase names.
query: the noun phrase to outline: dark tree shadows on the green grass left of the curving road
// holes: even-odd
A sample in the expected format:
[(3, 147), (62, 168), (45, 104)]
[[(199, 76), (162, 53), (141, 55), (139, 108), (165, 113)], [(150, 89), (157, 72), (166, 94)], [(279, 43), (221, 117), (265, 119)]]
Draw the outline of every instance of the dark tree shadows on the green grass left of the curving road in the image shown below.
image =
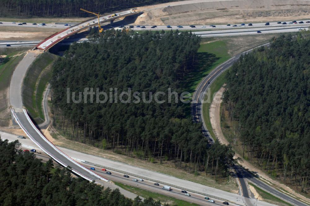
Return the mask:
[[(214, 67), (217, 60), (220, 58), (208, 52), (197, 53), (197, 63), (193, 65), (191, 71), (188, 72), (187, 76), (181, 82), (181, 88), (183, 91), (193, 94), (196, 90), (197, 85), (200, 83), (199, 80), (207, 76), (211, 68)], [(185, 115), (190, 117), (191, 105), (186, 104)]]

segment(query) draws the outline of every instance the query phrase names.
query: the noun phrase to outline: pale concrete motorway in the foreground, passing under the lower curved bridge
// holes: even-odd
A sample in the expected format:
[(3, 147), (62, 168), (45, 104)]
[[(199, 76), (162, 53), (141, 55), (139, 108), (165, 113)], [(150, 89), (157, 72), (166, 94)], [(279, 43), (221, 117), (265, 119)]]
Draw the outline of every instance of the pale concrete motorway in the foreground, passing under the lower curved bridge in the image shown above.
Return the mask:
[[(28, 149), (37, 149), (39, 151), (40, 148), (36, 146), (29, 138), (26, 139), (18, 139), (16, 135), (8, 134), (5, 132), (0, 132), (0, 135), (2, 139), (8, 139), (9, 141), (15, 141), (16, 139), (19, 140), (22, 144), (23, 147), (28, 148)], [(154, 188), (157, 188), (156, 192), (162, 194), (161, 192), (164, 191), (165, 195), (178, 195), (174, 196), (178, 199), (184, 199), (186, 201), (194, 201), (197, 200), (196, 198), (200, 199), (199, 201), (202, 200), (202, 202), (197, 203), (205, 203), (204, 197), (210, 197), (210, 199), (214, 199), (216, 203), (219, 203), (220, 205), (223, 205), (222, 202), (228, 201), (230, 205), (234, 205), (234, 203), (237, 203), (237, 205), (245, 205), (245, 202), (254, 202), (258, 203), (258, 205), (262, 206), (270, 206), (272, 204), (262, 202), (262, 201), (256, 201), (255, 199), (246, 199), (242, 197), (241, 195), (238, 194), (233, 194), (229, 192), (225, 192), (219, 189), (215, 189), (212, 187), (204, 186), (198, 183), (186, 181), (183, 179), (179, 179), (176, 177), (172, 177), (169, 175), (165, 175), (159, 172), (153, 172), (148, 169), (144, 168), (138, 168), (132, 165), (128, 165), (126, 163), (121, 163), (121, 162), (116, 162), (110, 159), (105, 159), (102, 157), (98, 157), (95, 155), (88, 155), (82, 152), (70, 150), (67, 148), (63, 147), (58, 147), (61, 151), (63, 151), (65, 154), (70, 156), (72, 159), (78, 161), (79, 163), (83, 164), (87, 168), (94, 167), (96, 168), (95, 172), (99, 174), (100, 176), (103, 176), (104, 178), (107, 178), (112, 181), (118, 181), (114, 179), (115, 174), (118, 174), (117, 177), (123, 178), (122, 175), (127, 174), (131, 178), (123, 178), (126, 180), (124, 183), (126, 184), (132, 184), (135, 183), (132, 181), (132, 179), (139, 179), (142, 178), (144, 179), (144, 183), (149, 183), (149, 188), (151, 191), (154, 190)], [(103, 174), (101, 173), (101, 168), (106, 168), (108, 171), (112, 172), (112, 176), (108, 174)], [(137, 175), (139, 174), (139, 175)], [(168, 191), (162, 190), (161, 187), (154, 186), (153, 183), (158, 182), (160, 186), (162, 185), (169, 185), (172, 187), (173, 191), (167, 193)], [(141, 182), (138, 182), (140, 186)], [(136, 186), (136, 183), (133, 185)], [(145, 185), (141, 185), (145, 186)], [(144, 188), (144, 189), (149, 189), (149, 188)], [(186, 190), (188, 193), (190, 193), (192, 196), (188, 197), (180, 193), (181, 190)], [(198, 200), (197, 200), (198, 201)], [(204, 204), (203, 204), (204, 205)], [(209, 203), (206, 203), (206, 205), (209, 205)], [(211, 204), (212, 205), (212, 204)]]

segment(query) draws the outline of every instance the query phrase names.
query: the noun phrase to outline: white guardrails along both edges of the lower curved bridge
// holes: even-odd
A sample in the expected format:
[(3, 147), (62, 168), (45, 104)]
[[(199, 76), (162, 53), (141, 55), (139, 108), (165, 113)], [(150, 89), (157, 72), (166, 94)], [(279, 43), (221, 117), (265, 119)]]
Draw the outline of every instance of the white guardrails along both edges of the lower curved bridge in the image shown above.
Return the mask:
[[(73, 159), (71, 159), (68, 155), (64, 154), (61, 150), (59, 150), (55, 145), (53, 145), (50, 141), (47, 140), (47, 138), (41, 133), (41, 131), (33, 124), (33, 122), (31, 121), (28, 113), (26, 110), (23, 110), (24, 114), (28, 120), (28, 122), (31, 124), (32, 128), (40, 135), (40, 137), (47, 142), (53, 149), (55, 149), (60, 155), (63, 155), (64, 157), (66, 157), (70, 162), (74, 163), (75, 165), (77, 165), (78, 167), (84, 169), (86, 172), (89, 172), (90, 174), (94, 175), (95, 177), (98, 177), (99, 179), (108, 182), (109, 180), (100, 177), (99, 175), (97, 175), (95, 172), (92, 172), (91, 170), (87, 169), (86, 167), (84, 167), (83, 165), (79, 164), (78, 162), (74, 161)], [(14, 119), (16, 120), (16, 122), (18, 123), (18, 125), (20, 126), (20, 128), (22, 128), (22, 130), (27, 134), (27, 136), (31, 139), (31, 141), (33, 141), (42, 151), (44, 151), (47, 155), (49, 155), (51, 158), (55, 159), (56, 162), (60, 163), (62, 166), (64, 167), (68, 167), (67, 164), (63, 163), (61, 160), (59, 160), (58, 158), (56, 158), (54, 155), (52, 155), (50, 152), (48, 152), (43, 146), (41, 146), (33, 137), (31, 137), (31, 135), (27, 132), (27, 130), (23, 127), (23, 125), (20, 123), (20, 120), (18, 119), (18, 117), (15, 114), (14, 109), (11, 109), (11, 112), (14, 116)], [(86, 177), (85, 175), (82, 175), (80, 172), (72, 169), (72, 171), (76, 174), (78, 174), (79, 176), (83, 177), (84, 179), (88, 180), (88, 181), (93, 181), (93, 179)]]

